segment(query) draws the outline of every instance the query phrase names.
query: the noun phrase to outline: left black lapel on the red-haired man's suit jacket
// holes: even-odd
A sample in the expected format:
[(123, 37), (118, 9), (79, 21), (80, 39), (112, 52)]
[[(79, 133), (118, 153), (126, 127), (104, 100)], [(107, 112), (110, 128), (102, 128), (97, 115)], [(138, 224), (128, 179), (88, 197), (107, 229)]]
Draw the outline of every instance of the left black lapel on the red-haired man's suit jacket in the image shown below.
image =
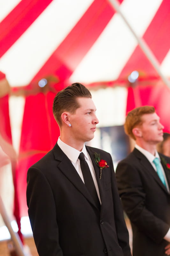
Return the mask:
[(133, 153), (137, 158), (139, 159), (141, 165), (144, 166), (144, 169), (147, 170), (148, 173), (150, 173), (153, 178), (157, 181), (159, 186), (165, 190), (166, 193), (168, 193), (166, 187), (163, 185), (162, 181), (160, 180), (157, 172), (154, 170), (152, 164), (148, 161), (148, 159), (142, 154), (137, 148), (134, 148)]

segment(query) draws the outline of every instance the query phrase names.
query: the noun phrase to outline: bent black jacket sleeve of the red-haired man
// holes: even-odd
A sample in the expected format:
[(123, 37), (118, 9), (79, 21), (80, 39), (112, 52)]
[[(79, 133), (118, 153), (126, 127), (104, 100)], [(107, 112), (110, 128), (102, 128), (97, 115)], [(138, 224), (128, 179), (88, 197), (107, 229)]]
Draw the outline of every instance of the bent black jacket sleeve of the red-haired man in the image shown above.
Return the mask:
[(146, 207), (147, 195), (139, 170), (133, 163), (121, 161), (116, 168), (116, 179), (123, 208), (131, 223), (155, 243), (159, 243), (166, 235), (169, 225)]

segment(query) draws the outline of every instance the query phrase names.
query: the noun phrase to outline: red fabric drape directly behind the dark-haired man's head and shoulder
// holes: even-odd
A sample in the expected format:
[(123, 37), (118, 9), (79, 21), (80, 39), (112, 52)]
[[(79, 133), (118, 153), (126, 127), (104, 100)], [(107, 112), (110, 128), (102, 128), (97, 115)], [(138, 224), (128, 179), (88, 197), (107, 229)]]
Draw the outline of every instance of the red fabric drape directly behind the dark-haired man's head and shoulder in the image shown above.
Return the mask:
[(55, 145), (58, 138), (59, 127), (52, 113), (54, 97), (54, 93), (48, 92), (47, 94), (39, 93), (26, 98), (20, 154), (16, 171), (21, 216), (27, 215), (27, 169), (44, 156)]

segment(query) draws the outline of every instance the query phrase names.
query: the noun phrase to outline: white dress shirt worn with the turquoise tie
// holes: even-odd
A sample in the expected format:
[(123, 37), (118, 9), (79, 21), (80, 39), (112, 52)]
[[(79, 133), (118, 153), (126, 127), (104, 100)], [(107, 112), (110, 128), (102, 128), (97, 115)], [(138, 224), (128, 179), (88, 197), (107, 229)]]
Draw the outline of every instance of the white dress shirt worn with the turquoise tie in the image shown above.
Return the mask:
[[(149, 151), (145, 150), (144, 148), (141, 148), (140, 146), (138, 146), (137, 144), (135, 145), (135, 148), (137, 148), (144, 156), (146, 156), (146, 158), (148, 159), (148, 161), (152, 164), (154, 170), (156, 171), (156, 166), (155, 164), (153, 163), (153, 160), (155, 159), (155, 157), (158, 157), (159, 158), (159, 161), (160, 161), (160, 157), (159, 157), (159, 154), (157, 151), (155, 151), (155, 156), (152, 155)], [(169, 192), (169, 186), (168, 186), (168, 183), (167, 183), (167, 179), (166, 179), (166, 175), (165, 175), (165, 172), (164, 172), (164, 169), (162, 167), (162, 164), (160, 162), (160, 165), (161, 165), (161, 168), (162, 168), (162, 173), (164, 175), (164, 178), (165, 178), (165, 182), (166, 182), (166, 188)], [(166, 235), (164, 236), (164, 239), (168, 242), (170, 242), (170, 228), (168, 230), (168, 232), (166, 233)]]

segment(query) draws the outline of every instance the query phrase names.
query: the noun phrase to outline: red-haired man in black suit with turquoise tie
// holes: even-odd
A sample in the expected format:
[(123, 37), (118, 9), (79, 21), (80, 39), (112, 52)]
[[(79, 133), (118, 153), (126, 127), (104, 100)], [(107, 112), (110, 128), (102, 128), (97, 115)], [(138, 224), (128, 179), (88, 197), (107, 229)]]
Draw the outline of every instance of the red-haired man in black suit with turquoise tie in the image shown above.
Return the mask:
[(170, 255), (170, 158), (156, 150), (164, 127), (155, 108), (144, 106), (128, 113), (124, 128), (136, 145), (117, 165), (116, 179), (132, 225), (133, 255)]

